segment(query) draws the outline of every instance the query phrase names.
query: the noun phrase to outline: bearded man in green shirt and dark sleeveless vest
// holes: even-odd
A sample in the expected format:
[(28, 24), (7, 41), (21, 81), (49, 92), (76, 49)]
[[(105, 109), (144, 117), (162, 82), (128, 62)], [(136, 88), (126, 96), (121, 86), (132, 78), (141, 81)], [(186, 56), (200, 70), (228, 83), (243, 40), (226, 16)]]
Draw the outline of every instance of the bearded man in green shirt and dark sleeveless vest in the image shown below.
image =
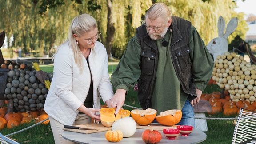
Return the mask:
[(172, 16), (163, 3), (153, 4), (128, 43), (111, 78), (116, 113), (126, 92), (138, 82), (143, 109), (157, 113), (182, 110), (180, 125), (195, 126), (193, 106), (212, 76), (213, 59), (191, 22)]

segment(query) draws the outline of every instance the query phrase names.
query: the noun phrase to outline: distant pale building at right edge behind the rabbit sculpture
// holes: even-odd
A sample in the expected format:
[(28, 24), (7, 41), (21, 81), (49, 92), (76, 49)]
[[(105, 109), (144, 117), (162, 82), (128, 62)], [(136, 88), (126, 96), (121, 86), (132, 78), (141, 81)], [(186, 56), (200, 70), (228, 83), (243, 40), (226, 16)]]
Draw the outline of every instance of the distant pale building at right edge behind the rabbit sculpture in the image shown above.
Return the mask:
[(246, 32), (245, 41), (256, 44), (256, 20), (248, 23), (249, 30)]

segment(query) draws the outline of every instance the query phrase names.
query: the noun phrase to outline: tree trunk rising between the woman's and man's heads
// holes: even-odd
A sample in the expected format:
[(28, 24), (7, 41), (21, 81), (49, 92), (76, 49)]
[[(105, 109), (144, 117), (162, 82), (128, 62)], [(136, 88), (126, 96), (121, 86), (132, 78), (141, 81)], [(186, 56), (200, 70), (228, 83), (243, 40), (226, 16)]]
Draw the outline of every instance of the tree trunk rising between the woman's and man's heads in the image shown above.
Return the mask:
[(108, 24), (107, 24), (107, 39), (105, 42), (108, 57), (111, 56), (111, 49), (114, 41), (114, 34), (116, 29), (114, 28), (113, 15), (112, 15), (112, 2), (107, 0), (108, 3)]

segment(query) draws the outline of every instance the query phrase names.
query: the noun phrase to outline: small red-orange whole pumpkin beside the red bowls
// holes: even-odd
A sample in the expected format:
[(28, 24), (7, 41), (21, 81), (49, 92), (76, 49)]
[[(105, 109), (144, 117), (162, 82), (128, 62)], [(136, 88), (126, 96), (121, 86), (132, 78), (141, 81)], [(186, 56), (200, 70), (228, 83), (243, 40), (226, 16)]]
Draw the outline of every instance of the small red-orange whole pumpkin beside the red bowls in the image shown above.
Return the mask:
[(142, 140), (146, 144), (156, 144), (159, 143), (162, 139), (162, 135), (159, 131), (153, 130), (152, 126), (148, 125), (150, 127), (150, 130), (147, 129), (144, 132), (142, 132)]

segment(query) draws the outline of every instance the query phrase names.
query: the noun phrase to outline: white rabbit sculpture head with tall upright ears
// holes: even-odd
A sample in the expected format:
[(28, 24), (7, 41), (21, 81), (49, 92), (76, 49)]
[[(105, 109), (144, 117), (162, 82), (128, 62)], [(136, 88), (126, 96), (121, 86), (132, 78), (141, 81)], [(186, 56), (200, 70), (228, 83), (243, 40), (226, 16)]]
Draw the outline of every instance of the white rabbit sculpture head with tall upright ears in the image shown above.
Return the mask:
[(219, 17), (219, 20), (218, 20), (219, 37), (216, 37), (213, 40), (211, 40), (209, 44), (207, 44), (206, 46), (208, 51), (213, 55), (214, 60), (216, 60), (216, 57), (218, 55), (222, 55), (225, 52), (228, 52), (227, 38), (229, 35), (232, 34), (232, 32), (236, 30), (237, 23), (238, 23), (237, 17), (232, 18), (227, 25), (226, 32), (224, 33), (226, 24), (225, 24), (224, 18), (222, 16)]

